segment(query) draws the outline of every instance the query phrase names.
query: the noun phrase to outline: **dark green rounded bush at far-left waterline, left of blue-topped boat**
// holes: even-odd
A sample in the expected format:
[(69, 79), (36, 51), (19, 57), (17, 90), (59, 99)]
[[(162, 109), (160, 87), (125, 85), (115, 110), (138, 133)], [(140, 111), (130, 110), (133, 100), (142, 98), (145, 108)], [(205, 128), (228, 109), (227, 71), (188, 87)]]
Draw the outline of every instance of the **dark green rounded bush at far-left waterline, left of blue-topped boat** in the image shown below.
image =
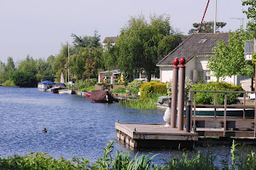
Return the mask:
[(31, 72), (15, 71), (13, 80), (16, 86), (22, 88), (37, 87), (37, 77)]

